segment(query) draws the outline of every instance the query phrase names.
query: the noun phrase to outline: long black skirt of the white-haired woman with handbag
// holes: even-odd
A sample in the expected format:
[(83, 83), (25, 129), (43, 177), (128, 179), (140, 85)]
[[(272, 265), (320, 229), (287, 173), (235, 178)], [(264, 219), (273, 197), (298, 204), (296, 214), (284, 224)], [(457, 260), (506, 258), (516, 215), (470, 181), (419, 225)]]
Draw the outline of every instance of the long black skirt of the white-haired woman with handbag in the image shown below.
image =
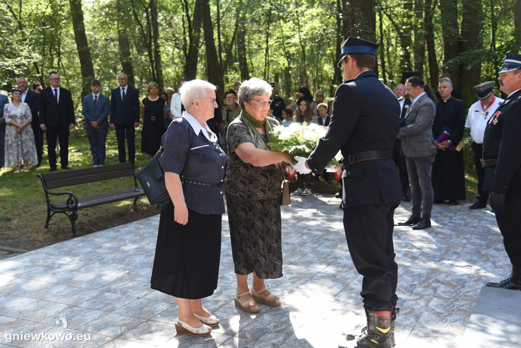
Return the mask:
[(221, 253), (221, 214), (188, 209), (188, 223), (173, 219), (173, 205), (161, 212), (151, 288), (198, 299), (217, 289)]

